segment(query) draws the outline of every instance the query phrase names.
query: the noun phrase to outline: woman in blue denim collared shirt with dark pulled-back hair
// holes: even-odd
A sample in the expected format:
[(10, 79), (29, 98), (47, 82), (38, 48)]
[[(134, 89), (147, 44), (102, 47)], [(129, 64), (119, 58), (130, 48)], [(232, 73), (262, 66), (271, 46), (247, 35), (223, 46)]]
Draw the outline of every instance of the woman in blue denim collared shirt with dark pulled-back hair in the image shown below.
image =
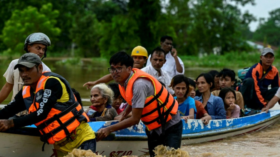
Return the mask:
[(200, 97), (196, 96), (195, 100), (203, 104), (212, 119), (226, 119), (222, 98), (214, 96), (210, 92), (214, 85), (213, 77), (208, 73), (202, 73), (196, 78), (196, 82), (197, 88), (202, 95)]

